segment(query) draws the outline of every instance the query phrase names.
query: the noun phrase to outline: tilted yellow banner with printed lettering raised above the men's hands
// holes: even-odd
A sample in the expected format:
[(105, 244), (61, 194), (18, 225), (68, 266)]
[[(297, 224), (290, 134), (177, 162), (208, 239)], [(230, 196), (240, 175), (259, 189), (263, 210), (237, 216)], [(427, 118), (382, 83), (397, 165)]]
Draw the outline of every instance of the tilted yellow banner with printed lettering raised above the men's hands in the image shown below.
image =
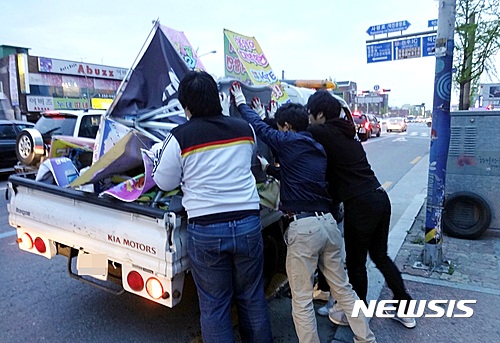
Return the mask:
[[(227, 56), (231, 56), (231, 53), (235, 53), (245, 68), (247, 77), (252, 80), (254, 85), (270, 86), (272, 90), (272, 99), (278, 104), (284, 104), (290, 101), (255, 37), (243, 36), (227, 29), (224, 29), (224, 37), (229, 41), (229, 45), (226, 46), (225, 44), (224, 46), (226, 75), (228, 75)], [(229, 74), (228, 76), (234, 75)]]

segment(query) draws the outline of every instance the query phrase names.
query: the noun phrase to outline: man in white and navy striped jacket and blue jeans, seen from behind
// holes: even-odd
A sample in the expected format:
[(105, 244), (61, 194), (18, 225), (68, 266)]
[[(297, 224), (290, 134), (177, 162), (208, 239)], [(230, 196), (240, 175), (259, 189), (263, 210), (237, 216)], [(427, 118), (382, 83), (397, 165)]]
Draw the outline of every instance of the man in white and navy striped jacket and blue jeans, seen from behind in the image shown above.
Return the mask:
[(242, 340), (272, 342), (260, 199), (250, 169), (254, 132), (244, 120), (222, 114), (217, 84), (206, 72), (187, 73), (178, 99), (189, 121), (157, 151), (153, 178), (163, 190), (180, 185), (183, 192), (203, 342), (234, 342), (233, 298)]

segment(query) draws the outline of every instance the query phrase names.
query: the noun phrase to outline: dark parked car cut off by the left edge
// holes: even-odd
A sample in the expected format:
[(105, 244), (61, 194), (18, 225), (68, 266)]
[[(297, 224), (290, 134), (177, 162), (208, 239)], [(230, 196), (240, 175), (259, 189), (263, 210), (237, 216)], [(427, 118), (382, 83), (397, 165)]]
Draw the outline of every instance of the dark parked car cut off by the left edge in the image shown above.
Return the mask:
[(14, 171), (17, 163), (16, 137), (23, 129), (34, 126), (26, 121), (0, 119), (0, 173)]

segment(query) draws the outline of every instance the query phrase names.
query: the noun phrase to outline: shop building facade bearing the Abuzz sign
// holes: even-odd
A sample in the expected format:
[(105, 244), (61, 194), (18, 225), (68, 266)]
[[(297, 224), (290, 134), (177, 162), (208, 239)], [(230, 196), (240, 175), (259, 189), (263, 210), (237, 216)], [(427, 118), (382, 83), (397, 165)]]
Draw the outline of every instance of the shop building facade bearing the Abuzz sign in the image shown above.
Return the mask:
[(36, 121), (47, 110), (107, 109), (128, 69), (30, 56), (0, 46), (0, 86), (17, 119)]

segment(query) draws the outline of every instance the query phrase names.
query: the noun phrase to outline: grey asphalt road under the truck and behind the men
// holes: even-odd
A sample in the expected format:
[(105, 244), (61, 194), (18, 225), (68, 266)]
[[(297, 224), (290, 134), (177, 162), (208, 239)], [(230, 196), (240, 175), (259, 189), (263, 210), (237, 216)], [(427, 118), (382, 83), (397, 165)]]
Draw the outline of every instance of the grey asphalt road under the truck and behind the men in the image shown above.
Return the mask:
[[(426, 182), (425, 141), (409, 138), (406, 141), (398, 140), (410, 134), (411, 130), (407, 135), (383, 133), (380, 140), (374, 138), (363, 143), (377, 174), (380, 171), (387, 176), (383, 176), (381, 182), (392, 182), (389, 196), (393, 202), (394, 227), (408, 216), (408, 213), (405, 214), (406, 209), (414, 207), (415, 196), (421, 192), (422, 187), (416, 187), (414, 179)], [(402, 163), (391, 165), (385, 160), (386, 155), (399, 156), (404, 149), (413, 149), (415, 143), (423, 147), (423, 152), (415, 152), (422, 156), (421, 162), (412, 164), (415, 156), (406, 156), (401, 171), (398, 168)], [(383, 154), (384, 157), (378, 159), (376, 154)], [(393, 156), (394, 160), (397, 158)], [(382, 173), (384, 167), (392, 171)], [(2, 195), (4, 184), (0, 181)], [(14, 239), (2, 196), (0, 275), (3, 277), (3, 294), (0, 297), (0, 342), (199, 341), (199, 311), (194, 287), (189, 281), (183, 302), (173, 309), (130, 294), (116, 297), (69, 278), (65, 258), (57, 256), (48, 261), (27, 254), (17, 248)], [(382, 286), (379, 281), (371, 280), (374, 282), (370, 284), (370, 295), (377, 298)], [(296, 342), (290, 316), (290, 299), (286, 295), (279, 295), (269, 301), (269, 308), (275, 341)], [(329, 342), (336, 337), (337, 327), (327, 318), (318, 317), (318, 327), (322, 342)]]

